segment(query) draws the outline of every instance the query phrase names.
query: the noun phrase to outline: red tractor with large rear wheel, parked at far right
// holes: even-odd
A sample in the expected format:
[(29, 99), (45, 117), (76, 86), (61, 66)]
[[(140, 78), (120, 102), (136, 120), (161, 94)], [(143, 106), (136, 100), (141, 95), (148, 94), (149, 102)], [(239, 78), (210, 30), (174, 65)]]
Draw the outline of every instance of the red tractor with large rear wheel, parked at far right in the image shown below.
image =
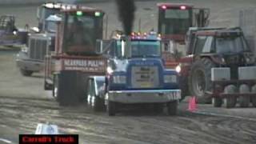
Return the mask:
[(183, 97), (216, 107), (256, 106), (254, 54), (239, 27), (190, 28), (187, 40), (180, 60)]

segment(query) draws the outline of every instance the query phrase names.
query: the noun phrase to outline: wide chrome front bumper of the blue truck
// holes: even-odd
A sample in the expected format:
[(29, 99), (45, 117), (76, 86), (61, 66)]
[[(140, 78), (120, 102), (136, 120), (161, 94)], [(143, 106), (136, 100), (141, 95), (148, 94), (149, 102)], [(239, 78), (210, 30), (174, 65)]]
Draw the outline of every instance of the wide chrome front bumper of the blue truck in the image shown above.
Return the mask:
[(117, 90), (109, 91), (106, 99), (121, 103), (160, 103), (181, 99), (181, 90)]

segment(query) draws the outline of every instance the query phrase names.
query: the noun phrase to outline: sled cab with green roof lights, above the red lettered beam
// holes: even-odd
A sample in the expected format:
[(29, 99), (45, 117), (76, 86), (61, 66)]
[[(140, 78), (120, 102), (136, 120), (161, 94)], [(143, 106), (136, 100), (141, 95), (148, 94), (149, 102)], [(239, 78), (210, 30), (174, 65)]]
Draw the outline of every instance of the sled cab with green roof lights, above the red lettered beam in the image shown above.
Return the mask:
[(58, 33), (58, 53), (69, 55), (97, 55), (97, 39), (102, 39), (102, 10), (71, 7), (62, 10)]

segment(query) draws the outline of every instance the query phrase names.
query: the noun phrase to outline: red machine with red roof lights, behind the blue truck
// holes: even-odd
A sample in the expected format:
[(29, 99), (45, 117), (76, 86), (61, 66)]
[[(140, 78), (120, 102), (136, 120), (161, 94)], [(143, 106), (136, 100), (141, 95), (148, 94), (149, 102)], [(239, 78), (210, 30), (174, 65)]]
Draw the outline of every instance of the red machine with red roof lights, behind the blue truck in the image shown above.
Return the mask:
[(209, 9), (194, 8), (191, 4), (158, 3), (158, 34), (166, 41), (162, 50), (166, 67), (178, 65), (182, 56), (178, 45), (185, 44), (187, 30), (193, 26), (207, 26), (209, 15)]

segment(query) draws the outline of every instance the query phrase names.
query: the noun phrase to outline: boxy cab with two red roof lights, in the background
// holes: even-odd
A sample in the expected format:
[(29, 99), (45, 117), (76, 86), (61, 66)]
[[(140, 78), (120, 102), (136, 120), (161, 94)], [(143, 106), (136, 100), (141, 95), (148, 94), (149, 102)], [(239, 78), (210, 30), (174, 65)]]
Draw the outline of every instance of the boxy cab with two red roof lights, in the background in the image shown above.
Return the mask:
[(158, 33), (163, 38), (183, 40), (183, 35), (192, 26), (193, 6), (189, 4), (158, 4)]

